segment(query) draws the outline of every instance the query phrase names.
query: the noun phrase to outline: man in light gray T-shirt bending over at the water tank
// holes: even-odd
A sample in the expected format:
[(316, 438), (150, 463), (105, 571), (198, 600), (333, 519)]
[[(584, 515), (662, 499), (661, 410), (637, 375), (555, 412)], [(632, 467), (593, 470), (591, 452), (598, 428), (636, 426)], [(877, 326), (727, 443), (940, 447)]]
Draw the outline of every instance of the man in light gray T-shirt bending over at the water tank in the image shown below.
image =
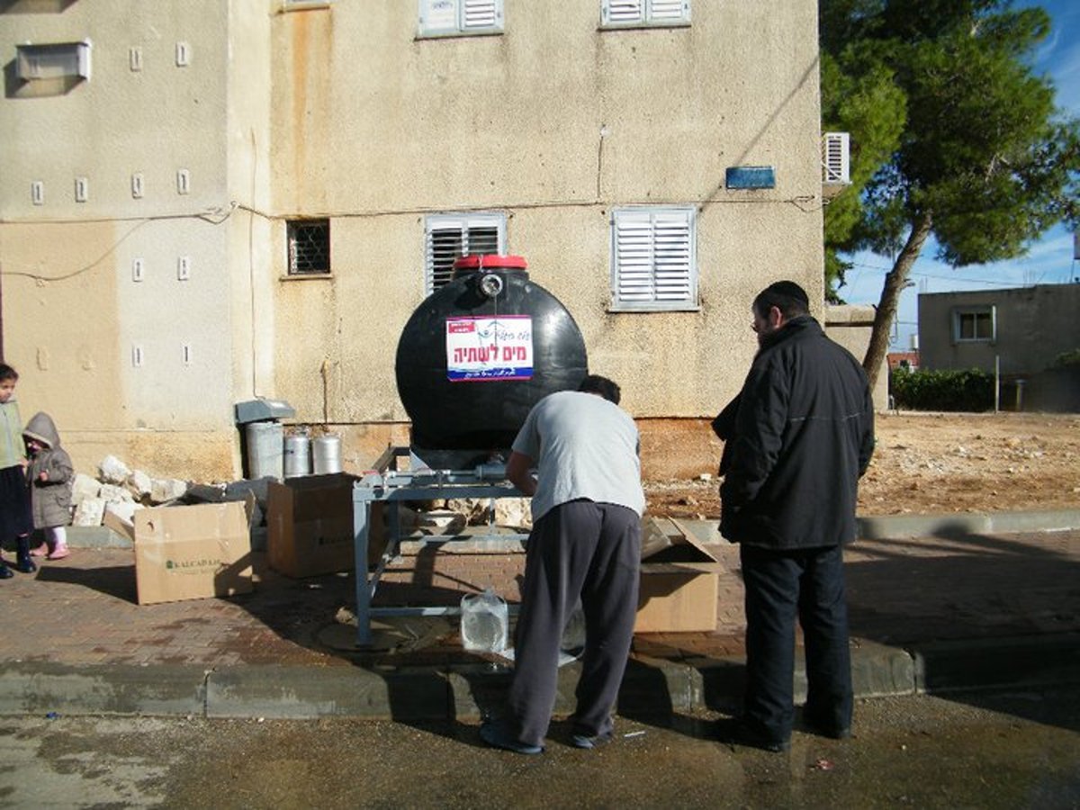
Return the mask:
[(578, 391), (541, 400), (514, 440), (507, 475), (532, 496), (534, 523), (507, 714), (481, 727), (495, 747), (543, 751), (559, 642), (579, 598), (585, 651), (572, 743), (592, 748), (611, 739), (637, 612), (645, 509), (637, 426), (618, 403), (619, 387), (590, 375)]

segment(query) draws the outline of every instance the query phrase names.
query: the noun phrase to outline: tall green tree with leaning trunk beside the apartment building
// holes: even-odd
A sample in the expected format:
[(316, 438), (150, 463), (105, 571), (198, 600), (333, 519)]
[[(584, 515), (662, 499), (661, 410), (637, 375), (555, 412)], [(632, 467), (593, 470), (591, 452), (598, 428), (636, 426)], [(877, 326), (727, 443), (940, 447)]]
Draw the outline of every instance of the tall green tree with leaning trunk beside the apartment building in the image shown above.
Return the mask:
[(1014, 10), (1011, 0), (822, 0), (821, 26), (823, 99), (842, 93), (832, 82), (869, 66), (891, 76), (906, 110), (895, 148), (851, 189), (860, 198), (854, 221), (826, 226), (828, 249), (893, 259), (863, 361), (873, 384), (900, 293), (931, 235), (937, 257), (960, 267), (1022, 255), (1063, 218), (1076, 221), (1080, 124), (1058, 113), (1053, 85), (1029, 65), (1050, 31), (1042, 9)]

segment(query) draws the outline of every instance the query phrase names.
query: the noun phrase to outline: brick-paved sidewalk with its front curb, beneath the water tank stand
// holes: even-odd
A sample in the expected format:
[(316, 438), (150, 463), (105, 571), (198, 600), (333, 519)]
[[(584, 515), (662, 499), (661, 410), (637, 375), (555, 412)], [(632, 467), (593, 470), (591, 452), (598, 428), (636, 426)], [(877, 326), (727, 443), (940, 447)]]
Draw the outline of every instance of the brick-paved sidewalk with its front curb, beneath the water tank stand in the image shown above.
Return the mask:
[[(858, 697), (1080, 683), (1080, 513), (863, 526), (867, 539), (847, 553)], [(705, 522), (694, 531), (716, 538)], [(716, 551), (726, 568), (717, 629), (636, 636), (623, 713), (737, 705), (745, 630), (738, 548)], [(461, 555), (416, 558), (383, 580), (376, 604), (457, 604), (491, 570), (512, 597), (524, 555), (498, 556), (488, 555), (476, 582)], [(77, 549), (0, 581), (0, 713), (421, 718), (498, 703), (505, 662), (463, 651), (456, 619), (387, 620), (379, 649), (357, 651), (346, 623), (351, 575), (291, 580), (269, 570), (265, 555), (253, 557), (255, 592), (229, 599), (136, 605), (130, 548)], [(561, 673), (563, 712), (577, 664)]]

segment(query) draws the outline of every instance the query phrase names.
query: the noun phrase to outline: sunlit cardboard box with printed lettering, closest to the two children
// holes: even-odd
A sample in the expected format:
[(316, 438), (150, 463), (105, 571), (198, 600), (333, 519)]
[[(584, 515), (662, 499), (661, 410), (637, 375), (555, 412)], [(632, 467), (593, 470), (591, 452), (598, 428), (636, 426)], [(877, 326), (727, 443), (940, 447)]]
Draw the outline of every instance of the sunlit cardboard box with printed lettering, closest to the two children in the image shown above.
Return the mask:
[(249, 509), (237, 501), (136, 512), (138, 604), (251, 592)]

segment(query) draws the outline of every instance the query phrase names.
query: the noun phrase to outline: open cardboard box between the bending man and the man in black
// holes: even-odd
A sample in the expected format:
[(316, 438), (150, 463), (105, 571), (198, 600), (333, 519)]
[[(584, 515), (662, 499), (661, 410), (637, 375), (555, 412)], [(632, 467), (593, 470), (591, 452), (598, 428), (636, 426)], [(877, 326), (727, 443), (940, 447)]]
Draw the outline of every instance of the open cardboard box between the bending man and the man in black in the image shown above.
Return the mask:
[(673, 518), (642, 522), (642, 585), (635, 633), (716, 630), (719, 572), (708, 546)]

